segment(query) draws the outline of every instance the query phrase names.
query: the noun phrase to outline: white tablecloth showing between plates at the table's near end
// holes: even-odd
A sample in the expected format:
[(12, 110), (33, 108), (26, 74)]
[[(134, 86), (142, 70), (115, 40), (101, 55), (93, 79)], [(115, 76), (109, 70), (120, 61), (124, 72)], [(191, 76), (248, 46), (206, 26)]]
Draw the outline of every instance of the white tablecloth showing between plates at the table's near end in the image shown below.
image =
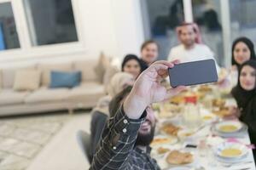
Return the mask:
[[(190, 141), (178, 142), (177, 144), (171, 145), (170, 148), (172, 148), (172, 150), (175, 150), (175, 149), (182, 150), (184, 148), (184, 145), (196, 144), (198, 142), (197, 140), (199, 139), (206, 139), (207, 143), (211, 144), (212, 148), (214, 148), (216, 145), (226, 141), (226, 139), (224, 138), (221, 138), (218, 136), (212, 137), (212, 135), (209, 135), (212, 133), (211, 127), (212, 127), (212, 124), (209, 124), (201, 128), (200, 131), (195, 133), (194, 137), (191, 138)], [(207, 134), (208, 134), (208, 137), (207, 137)], [(238, 139), (242, 144), (250, 144), (250, 139), (247, 132), (245, 132), (242, 138), (236, 138), (236, 139)], [(205, 169), (207, 170), (240, 170), (240, 169), (249, 167), (250, 170), (256, 170), (252, 150), (249, 150), (247, 157), (242, 159), (242, 161), (239, 161), (241, 163), (235, 163), (230, 167), (224, 167), (224, 165), (227, 166), (227, 163), (218, 161), (216, 156), (213, 156), (212, 148), (209, 148), (207, 150), (208, 154), (206, 154), (206, 156), (200, 156), (198, 149), (189, 149), (189, 151), (195, 154), (195, 161), (194, 163), (190, 164), (188, 167), (191, 167), (191, 169), (193, 169), (192, 167), (195, 168), (195, 167), (202, 166), (202, 167), (205, 167)], [(172, 167), (170, 167), (170, 165), (168, 165), (168, 163), (166, 162), (166, 158), (164, 156), (155, 157), (155, 159), (158, 161), (158, 164), (162, 169), (172, 169)], [(241, 166), (243, 164), (242, 162), (246, 162), (246, 163), (243, 166)]]

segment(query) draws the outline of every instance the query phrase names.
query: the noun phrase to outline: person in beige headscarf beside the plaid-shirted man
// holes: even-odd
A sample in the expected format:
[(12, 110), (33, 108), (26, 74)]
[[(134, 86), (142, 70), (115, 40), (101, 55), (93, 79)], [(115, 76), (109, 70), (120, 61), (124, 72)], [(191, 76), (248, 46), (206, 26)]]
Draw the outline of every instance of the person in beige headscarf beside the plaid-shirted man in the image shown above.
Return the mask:
[(96, 146), (101, 139), (102, 130), (104, 129), (105, 122), (108, 120), (109, 111), (108, 105), (111, 99), (122, 91), (127, 86), (134, 83), (134, 77), (126, 72), (119, 72), (113, 76), (108, 85), (108, 95), (99, 99), (96, 107), (91, 111), (91, 122), (90, 122), (90, 145), (91, 145), (91, 158), (96, 152)]

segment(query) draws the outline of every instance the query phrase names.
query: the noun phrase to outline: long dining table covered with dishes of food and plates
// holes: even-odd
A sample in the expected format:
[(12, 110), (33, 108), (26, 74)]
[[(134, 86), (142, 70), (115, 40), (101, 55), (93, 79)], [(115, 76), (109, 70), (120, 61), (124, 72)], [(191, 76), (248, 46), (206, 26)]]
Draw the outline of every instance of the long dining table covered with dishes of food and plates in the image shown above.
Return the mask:
[[(219, 88), (217, 84), (187, 88), (168, 101), (154, 104), (158, 122), (150, 144), (151, 156), (164, 170), (255, 170), (248, 127), (229, 115), (230, 107), (236, 107), (230, 88)], [(239, 129), (220, 132), (220, 127), (228, 123)], [(242, 156), (222, 155), (223, 150), (232, 147), (241, 150)], [(164, 153), (160, 153), (161, 149)], [(170, 163), (168, 155), (174, 150), (191, 154), (193, 161)]]

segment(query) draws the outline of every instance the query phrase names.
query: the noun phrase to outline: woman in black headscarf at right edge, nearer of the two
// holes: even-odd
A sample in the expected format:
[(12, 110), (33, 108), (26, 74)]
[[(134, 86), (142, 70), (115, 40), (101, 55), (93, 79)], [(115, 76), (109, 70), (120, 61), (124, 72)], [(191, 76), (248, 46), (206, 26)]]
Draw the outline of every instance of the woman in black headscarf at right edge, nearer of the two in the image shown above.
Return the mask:
[[(256, 144), (256, 60), (241, 64), (238, 83), (231, 94), (238, 105), (232, 113), (247, 124), (251, 142)], [(253, 150), (254, 160), (255, 153)]]

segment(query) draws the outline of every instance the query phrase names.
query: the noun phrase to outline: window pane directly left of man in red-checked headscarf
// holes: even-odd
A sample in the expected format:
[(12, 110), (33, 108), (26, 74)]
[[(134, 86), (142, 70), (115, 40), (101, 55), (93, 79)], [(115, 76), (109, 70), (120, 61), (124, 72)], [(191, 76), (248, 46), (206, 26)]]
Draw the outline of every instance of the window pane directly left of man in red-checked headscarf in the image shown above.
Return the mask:
[(184, 20), (183, 1), (147, 0), (147, 8), (151, 38), (160, 44), (159, 59), (166, 59), (170, 47), (178, 42), (175, 28)]

